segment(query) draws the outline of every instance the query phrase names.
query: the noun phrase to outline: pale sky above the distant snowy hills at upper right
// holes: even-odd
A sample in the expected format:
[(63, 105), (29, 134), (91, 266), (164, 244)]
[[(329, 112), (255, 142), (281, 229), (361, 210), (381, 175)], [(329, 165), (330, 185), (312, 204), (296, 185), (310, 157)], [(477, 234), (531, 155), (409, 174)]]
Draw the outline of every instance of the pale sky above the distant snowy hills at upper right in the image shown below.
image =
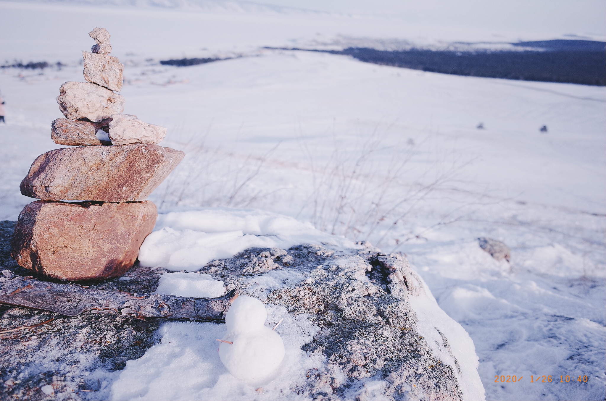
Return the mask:
[[(361, 15), (393, 15), (408, 22), (473, 25), (506, 31), (606, 36), (604, 0), (256, 0), (262, 4)], [(547, 39), (547, 38), (546, 38)]]

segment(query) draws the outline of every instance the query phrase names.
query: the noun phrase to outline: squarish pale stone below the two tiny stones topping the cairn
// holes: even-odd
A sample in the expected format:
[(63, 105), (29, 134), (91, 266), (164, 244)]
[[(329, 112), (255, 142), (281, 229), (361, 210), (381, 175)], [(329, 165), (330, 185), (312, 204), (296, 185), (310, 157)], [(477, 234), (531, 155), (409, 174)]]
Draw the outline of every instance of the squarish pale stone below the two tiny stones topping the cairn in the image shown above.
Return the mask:
[(122, 90), (124, 65), (117, 57), (82, 51), (84, 79), (117, 92)]

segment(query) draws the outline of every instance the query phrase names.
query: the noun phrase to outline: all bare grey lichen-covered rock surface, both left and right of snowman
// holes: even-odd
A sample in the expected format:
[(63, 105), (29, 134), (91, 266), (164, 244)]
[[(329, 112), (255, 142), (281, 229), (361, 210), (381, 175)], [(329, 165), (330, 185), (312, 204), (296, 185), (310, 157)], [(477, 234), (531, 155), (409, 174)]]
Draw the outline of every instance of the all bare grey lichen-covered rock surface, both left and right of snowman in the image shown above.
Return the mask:
[[(10, 227), (5, 235), (8, 231)], [(8, 260), (5, 267), (27, 274), (15, 264)], [(127, 273), (132, 280), (92, 285), (150, 292), (158, 283), (156, 273), (162, 272), (162, 268), (151, 271), (136, 266)], [(411, 305), (426, 290), (402, 256), (381, 254), (370, 247), (250, 248), (208, 263), (201, 273), (222, 280), (227, 290), (237, 287), (241, 294), (285, 307), (288, 314), (308, 319), (317, 328), (302, 352), (318, 363), (297, 372), (298, 377), (285, 383), (285, 393), (270, 399), (465, 399), (465, 383), (459, 379), (465, 366), (453, 356), (447, 337), (438, 337), (445, 352), (439, 354), (435, 351), (438, 341), (429, 343), (421, 334), (422, 319)], [(151, 333), (158, 324), (153, 321), (90, 313), (68, 318), (12, 307), (2, 307), (0, 313), (4, 328), (58, 318), (32, 330), (13, 332), (10, 341), (0, 343), (3, 399), (107, 399), (113, 394), (112, 383), (119, 382), (116, 370), (159, 341)], [(447, 353), (452, 357), (449, 362), (445, 362)], [(483, 399), (483, 390), (476, 398)]]

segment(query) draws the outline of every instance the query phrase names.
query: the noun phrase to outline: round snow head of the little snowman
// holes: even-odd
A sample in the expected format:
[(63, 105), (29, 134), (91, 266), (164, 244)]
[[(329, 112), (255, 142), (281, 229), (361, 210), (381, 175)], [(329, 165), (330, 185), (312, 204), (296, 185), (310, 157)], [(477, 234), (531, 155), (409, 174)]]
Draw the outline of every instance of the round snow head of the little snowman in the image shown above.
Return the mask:
[(258, 299), (241, 295), (231, 304), (225, 325), (228, 332), (246, 333), (264, 328), (265, 319), (265, 305)]

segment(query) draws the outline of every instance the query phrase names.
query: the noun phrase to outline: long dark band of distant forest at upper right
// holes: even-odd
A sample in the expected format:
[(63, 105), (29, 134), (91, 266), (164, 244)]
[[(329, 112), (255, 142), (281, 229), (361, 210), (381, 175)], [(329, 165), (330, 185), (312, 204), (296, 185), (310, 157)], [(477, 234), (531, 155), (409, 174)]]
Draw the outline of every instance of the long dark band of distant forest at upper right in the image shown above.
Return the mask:
[(411, 49), (387, 51), (350, 47), (342, 51), (311, 51), (350, 55), (360, 61), (374, 64), (444, 74), (606, 85), (605, 42), (554, 40), (519, 42), (513, 45), (536, 48), (537, 50), (452, 51)]

